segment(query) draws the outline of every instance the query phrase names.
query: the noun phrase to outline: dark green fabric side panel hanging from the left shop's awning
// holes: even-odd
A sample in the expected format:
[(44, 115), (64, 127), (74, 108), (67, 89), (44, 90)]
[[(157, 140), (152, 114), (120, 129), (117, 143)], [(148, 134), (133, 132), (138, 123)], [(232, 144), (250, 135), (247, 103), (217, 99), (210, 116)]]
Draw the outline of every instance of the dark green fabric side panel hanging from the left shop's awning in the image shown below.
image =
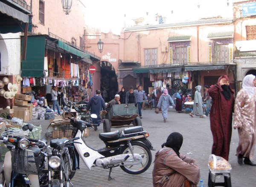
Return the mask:
[(21, 77), (44, 77), (44, 51), (45, 36), (28, 36), (26, 60), (21, 62)]

